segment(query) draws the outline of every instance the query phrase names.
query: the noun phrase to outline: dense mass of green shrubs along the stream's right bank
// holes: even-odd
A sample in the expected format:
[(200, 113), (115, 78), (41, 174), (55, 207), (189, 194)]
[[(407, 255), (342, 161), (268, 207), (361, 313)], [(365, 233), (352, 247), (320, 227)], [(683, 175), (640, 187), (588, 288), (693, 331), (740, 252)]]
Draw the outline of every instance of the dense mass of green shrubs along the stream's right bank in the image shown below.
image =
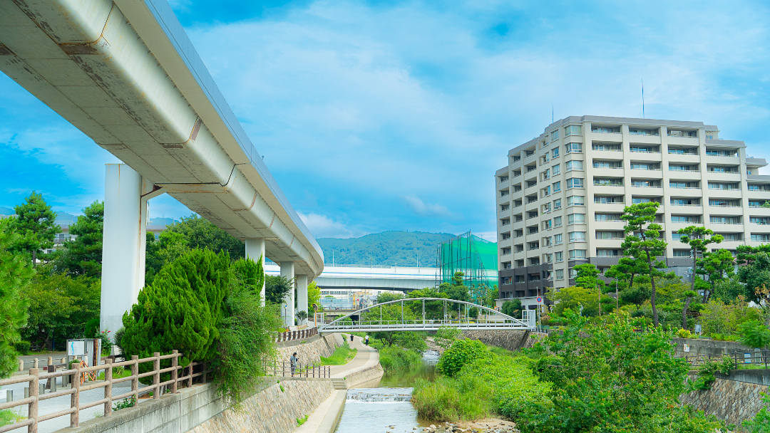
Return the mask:
[(713, 432), (723, 423), (679, 406), (688, 365), (674, 357), (671, 332), (634, 330), (618, 315), (594, 325), (565, 310), (563, 332), (526, 353), (490, 351), (458, 340), (436, 381), (418, 381), (413, 404), (430, 421), (502, 416), (529, 433), (556, 431)]

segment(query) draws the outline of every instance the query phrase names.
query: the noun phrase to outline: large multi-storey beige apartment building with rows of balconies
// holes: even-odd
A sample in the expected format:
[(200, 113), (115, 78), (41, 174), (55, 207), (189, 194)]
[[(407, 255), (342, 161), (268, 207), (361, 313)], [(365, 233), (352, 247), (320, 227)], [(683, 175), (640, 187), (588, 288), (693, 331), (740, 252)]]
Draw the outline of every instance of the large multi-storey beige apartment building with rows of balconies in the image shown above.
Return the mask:
[(659, 202), (668, 267), (689, 277), (677, 231), (705, 225), (714, 249), (770, 241), (770, 176), (744, 142), (702, 122), (571, 116), (511, 149), (495, 173), (500, 299), (574, 285), (574, 265), (604, 272), (621, 257), (626, 205)]

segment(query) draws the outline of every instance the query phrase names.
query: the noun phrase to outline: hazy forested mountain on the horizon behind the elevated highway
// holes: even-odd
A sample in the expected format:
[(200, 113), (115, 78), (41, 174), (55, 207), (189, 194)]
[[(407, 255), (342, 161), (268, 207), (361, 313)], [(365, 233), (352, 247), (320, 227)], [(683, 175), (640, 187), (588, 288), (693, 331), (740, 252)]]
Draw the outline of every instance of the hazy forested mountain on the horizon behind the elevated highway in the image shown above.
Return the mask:
[(454, 238), (451, 233), (383, 231), (360, 238), (318, 238), (324, 261), (336, 265), (395, 265), (434, 268), (437, 245)]

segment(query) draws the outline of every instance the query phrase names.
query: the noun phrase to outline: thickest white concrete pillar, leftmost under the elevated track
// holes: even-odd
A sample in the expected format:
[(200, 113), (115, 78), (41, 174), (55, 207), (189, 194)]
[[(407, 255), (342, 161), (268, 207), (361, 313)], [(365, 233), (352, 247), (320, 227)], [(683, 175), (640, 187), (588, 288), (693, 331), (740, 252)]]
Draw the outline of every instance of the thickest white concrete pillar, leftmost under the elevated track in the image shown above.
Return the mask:
[(111, 336), (144, 287), (146, 226), (142, 176), (125, 164), (106, 165), (99, 328), (109, 328)]

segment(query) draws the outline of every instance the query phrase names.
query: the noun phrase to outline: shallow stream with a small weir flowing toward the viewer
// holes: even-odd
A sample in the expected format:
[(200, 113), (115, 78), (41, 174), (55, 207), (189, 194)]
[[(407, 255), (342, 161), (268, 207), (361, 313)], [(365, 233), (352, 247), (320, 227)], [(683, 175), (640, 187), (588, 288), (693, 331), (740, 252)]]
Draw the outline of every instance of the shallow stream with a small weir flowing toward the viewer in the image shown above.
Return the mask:
[(417, 420), (417, 411), (410, 399), (417, 378), (434, 378), (437, 361), (437, 351), (426, 351), (422, 365), (409, 371), (387, 373), (377, 383), (367, 384), (371, 388), (349, 389), (340, 424), (335, 432), (413, 432), (413, 427), (430, 424)]

